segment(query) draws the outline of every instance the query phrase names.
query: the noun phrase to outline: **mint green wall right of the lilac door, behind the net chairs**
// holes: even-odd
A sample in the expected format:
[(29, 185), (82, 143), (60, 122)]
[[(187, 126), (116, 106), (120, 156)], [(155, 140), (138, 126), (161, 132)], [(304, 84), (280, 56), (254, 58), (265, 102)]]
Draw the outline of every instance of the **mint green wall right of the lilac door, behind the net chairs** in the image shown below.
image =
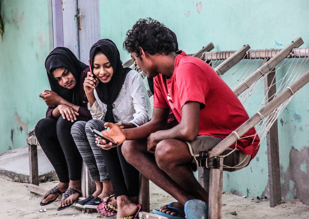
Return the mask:
[[(200, 1), (202, 8), (198, 13)], [(136, 20), (146, 17), (157, 19), (173, 30), (179, 48), (187, 53), (194, 53), (209, 42), (215, 46), (213, 51), (237, 50), (244, 44), (251, 49), (284, 48), (297, 37), (305, 42), (301, 47), (309, 47), (308, 8), (307, 0), (101, 0), (101, 37), (117, 44), (123, 61), (129, 58), (121, 49), (126, 31)], [(304, 186), (309, 180), (308, 91), (306, 85), (278, 119), (282, 197), (298, 197), (306, 204), (309, 204), (309, 187)], [(264, 197), (269, 196), (267, 181), (264, 140), (247, 168), (225, 173), (224, 189)]]

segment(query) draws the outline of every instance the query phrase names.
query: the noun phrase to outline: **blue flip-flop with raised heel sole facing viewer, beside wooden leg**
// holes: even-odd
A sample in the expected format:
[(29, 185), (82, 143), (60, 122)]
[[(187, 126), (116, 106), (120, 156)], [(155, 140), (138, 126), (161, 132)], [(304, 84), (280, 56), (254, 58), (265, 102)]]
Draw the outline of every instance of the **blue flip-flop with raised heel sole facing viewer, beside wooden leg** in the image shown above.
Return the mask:
[(184, 204), (184, 212), (187, 219), (208, 219), (208, 203), (193, 199)]

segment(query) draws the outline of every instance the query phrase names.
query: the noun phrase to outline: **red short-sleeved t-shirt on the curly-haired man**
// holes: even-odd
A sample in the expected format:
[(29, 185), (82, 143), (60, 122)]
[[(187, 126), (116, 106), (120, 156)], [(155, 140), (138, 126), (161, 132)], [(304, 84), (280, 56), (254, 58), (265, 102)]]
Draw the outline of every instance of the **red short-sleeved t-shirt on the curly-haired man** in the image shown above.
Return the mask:
[[(171, 78), (159, 74), (154, 78), (154, 107), (170, 108), (178, 122), (181, 121), (181, 107), (187, 101), (201, 104), (199, 135), (209, 135), (224, 139), (249, 116), (243, 105), (229, 86), (208, 64), (191, 57), (183, 51), (175, 59)], [(259, 137), (254, 128), (237, 141), (237, 149), (243, 154), (256, 155)], [(231, 145), (235, 148), (235, 144)], [(252, 159), (251, 158), (251, 159)]]

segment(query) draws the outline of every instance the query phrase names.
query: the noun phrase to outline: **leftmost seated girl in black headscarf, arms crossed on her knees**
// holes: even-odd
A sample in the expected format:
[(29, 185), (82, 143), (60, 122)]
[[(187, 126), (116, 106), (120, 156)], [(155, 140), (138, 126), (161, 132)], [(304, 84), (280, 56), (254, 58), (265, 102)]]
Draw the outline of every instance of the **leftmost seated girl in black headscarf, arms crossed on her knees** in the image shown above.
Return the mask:
[(83, 160), (70, 130), (74, 122), (91, 119), (83, 89), (89, 67), (70, 49), (57, 47), (47, 56), (45, 68), (51, 90), (40, 94), (48, 109), (46, 118), (36, 124), (35, 133), (60, 182), (45, 194), (40, 205), (50, 204), (64, 193), (58, 208), (62, 210), (81, 195)]

